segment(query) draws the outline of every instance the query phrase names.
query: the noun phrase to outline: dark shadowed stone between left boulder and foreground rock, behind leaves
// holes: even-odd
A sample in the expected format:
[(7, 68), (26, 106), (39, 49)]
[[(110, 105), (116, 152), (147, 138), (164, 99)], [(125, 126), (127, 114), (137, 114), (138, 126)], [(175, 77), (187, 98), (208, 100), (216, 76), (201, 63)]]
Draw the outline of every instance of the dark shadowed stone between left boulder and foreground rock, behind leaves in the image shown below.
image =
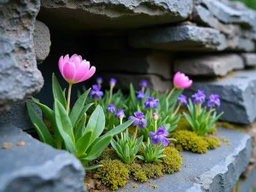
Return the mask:
[[(27, 100), (27, 102), (30, 102), (38, 115), (42, 117), (41, 109), (31, 100)], [(27, 113), (26, 102), (16, 102), (11, 106), (9, 111), (0, 112), (0, 123), (9, 123), (26, 131), (30, 129), (34, 130), (34, 125), (32, 125), (32, 121)]]

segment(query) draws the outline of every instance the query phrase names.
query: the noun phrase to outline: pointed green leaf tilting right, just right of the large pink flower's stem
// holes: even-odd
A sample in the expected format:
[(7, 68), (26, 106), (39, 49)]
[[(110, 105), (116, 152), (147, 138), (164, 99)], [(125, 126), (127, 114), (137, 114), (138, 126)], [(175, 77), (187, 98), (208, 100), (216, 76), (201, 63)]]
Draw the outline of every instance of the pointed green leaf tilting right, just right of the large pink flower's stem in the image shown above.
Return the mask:
[(69, 114), (69, 118), (71, 120), (72, 127), (74, 127), (77, 124), (80, 114), (81, 113), (82, 113), (82, 115), (84, 114), (83, 108), (84, 108), (84, 104), (86, 102), (86, 98), (87, 98), (89, 92), (90, 92), (90, 89), (86, 90), (82, 96), (79, 96), (79, 99), (73, 105), (71, 113)]

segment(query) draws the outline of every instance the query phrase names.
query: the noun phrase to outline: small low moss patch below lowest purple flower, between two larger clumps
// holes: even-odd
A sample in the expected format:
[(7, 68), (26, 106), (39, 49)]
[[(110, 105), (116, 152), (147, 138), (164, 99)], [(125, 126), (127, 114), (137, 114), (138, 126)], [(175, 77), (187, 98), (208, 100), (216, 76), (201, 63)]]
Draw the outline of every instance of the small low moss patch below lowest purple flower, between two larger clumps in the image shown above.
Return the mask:
[(163, 176), (163, 165), (160, 163), (145, 163), (143, 164), (143, 172), (148, 178), (156, 178)]

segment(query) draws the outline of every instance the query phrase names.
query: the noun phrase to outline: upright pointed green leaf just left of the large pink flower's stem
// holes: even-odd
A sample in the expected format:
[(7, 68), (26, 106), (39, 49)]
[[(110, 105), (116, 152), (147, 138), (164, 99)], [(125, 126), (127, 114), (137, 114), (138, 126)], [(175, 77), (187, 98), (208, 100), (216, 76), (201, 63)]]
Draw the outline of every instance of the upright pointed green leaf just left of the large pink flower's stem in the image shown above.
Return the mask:
[(52, 92), (54, 98), (61, 102), (63, 108), (67, 108), (66, 97), (64, 96), (63, 91), (61, 90), (61, 85), (55, 77), (55, 73), (52, 73)]

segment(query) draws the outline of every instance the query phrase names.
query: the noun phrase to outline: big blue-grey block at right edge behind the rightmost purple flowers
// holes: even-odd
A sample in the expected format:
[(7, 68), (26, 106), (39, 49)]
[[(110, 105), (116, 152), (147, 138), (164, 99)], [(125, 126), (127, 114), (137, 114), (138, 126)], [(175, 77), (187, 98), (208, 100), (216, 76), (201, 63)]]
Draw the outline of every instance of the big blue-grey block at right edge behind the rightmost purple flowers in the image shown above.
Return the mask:
[(191, 96), (197, 90), (205, 90), (207, 96), (218, 94), (224, 111), (224, 121), (250, 124), (256, 119), (256, 71), (232, 73), (224, 79), (194, 82), (185, 94)]

